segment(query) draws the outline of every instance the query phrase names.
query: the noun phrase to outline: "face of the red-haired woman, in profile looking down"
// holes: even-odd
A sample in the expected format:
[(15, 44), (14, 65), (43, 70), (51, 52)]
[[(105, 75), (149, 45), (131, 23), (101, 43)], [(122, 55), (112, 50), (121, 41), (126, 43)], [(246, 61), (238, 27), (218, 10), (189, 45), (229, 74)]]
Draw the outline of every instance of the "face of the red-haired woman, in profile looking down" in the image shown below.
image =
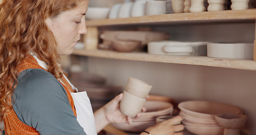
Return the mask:
[(57, 41), (57, 53), (70, 55), (81, 34), (87, 33), (85, 15), (88, 0), (83, 1), (76, 8), (60, 13), (57, 17), (48, 17), (46, 24)]

